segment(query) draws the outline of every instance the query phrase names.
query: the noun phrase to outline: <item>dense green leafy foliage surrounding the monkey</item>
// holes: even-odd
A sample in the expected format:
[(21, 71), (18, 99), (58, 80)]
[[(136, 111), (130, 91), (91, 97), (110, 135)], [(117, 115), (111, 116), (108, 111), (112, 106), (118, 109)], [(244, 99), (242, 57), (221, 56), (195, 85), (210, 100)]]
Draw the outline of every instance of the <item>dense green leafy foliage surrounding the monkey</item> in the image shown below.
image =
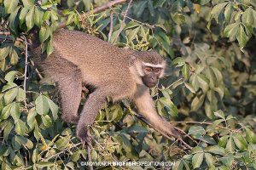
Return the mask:
[(133, 0), (94, 11), (105, 3), (0, 0), (1, 169), (77, 169), (88, 160), (75, 126), (61, 122), (54, 82), (26, 52), (27, 35), (38, 27), (42, 52), (50, 57), (60, 22), (119, 47), (154, 48), (165, 56), (166, 77), (151, 93), (159, 114), (183, 130), (188, 144), (148, 127), (129, 101), (110, 102), (91, 127), (92, 161), (255, 169), (255, 1)]

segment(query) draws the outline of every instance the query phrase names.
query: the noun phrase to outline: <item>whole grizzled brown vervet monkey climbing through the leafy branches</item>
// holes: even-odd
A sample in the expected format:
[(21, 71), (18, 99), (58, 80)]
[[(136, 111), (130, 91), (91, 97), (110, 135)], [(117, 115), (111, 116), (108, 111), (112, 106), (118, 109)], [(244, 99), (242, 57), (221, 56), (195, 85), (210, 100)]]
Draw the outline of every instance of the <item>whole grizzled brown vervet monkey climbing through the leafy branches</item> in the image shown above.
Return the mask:
[[(54, 52), (41, 54), (38, 40), (32, 40), (32, 59), (44, 74), (58, 84), (61, 94), (62, 120), (77, 123), (77, 136), (88, 141), (88, 126), (96, 118), (107, 97), (113, 101), (131, 99), (139, 113), (158, 131), (179, 138), (172, 125), (163, 120), (154, 109), (149, 94), (160, 77), (166, 61), (152, 51), (118, 48), (97, 37), (80, 31), (55, 31)], [(83, 84), (96, 89), (78, 115)]]

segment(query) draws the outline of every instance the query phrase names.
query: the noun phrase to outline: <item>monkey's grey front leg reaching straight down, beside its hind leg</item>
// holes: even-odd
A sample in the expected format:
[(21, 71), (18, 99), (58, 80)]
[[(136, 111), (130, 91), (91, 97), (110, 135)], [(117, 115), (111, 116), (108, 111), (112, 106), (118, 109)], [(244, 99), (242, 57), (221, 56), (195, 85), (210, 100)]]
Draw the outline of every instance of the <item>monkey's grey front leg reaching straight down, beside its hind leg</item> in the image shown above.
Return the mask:
[(95, 121), (99, 110), (102, 109), (105, 102), (106, 95), (104, 91), (100, 89), (96, 89), (94, 93), (89, 95), (77, 126), (77, 136), (82, 142), (90, 144), (89, 126)]

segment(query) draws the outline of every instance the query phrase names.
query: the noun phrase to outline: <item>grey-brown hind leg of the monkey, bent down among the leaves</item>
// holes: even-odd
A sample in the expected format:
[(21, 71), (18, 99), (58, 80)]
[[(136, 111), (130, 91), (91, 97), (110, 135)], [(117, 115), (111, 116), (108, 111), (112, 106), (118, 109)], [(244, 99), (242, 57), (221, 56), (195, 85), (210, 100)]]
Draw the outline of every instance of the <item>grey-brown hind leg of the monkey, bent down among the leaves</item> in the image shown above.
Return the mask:
[(64, 122), (79, 122), (79, 104), (82, 93), (82, 75), (80, 71), (70, 71), (69, 74), (58, 74), (58, 88), (61, 94), (61, 119)]

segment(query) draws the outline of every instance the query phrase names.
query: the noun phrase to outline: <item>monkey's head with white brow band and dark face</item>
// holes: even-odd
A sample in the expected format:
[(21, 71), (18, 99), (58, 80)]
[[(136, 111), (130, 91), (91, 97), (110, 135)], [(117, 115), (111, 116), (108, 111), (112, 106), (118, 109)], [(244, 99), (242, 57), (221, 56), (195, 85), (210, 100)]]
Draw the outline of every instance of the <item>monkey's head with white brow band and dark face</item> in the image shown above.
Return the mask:
[(160, 77), (164, 76), (166, 60), (153, 50), (137, 51), (133, 59), (132, 66), (137, 71), (137, 77), (140, 77), (137, 82), (148, 88), (156, 86)]

